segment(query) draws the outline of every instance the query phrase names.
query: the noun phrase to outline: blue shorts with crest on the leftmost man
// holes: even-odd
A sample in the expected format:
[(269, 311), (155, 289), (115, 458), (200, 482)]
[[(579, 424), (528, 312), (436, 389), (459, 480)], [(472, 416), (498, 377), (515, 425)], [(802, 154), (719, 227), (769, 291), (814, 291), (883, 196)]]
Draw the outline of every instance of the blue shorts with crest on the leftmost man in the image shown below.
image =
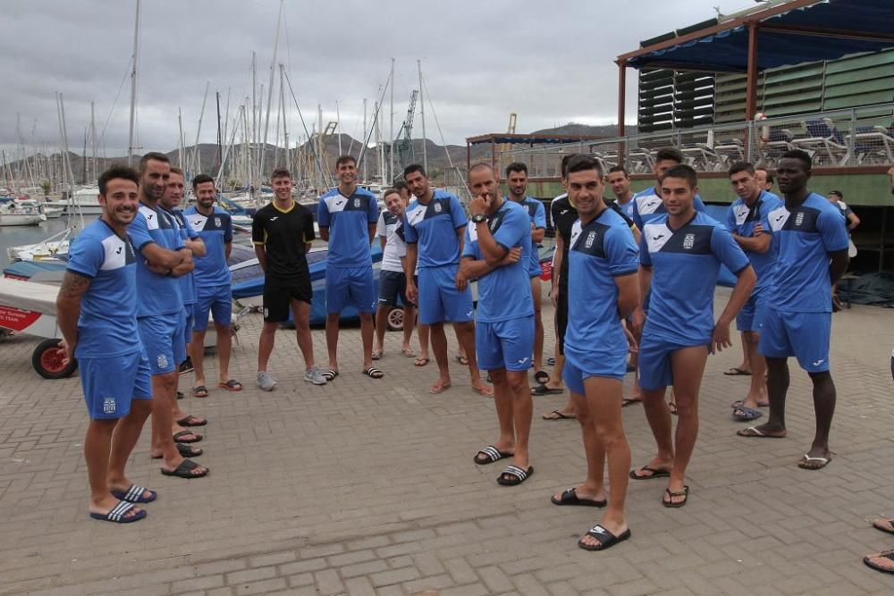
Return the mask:
[(92, 420), (122, 418), (131, 399), (152, 399), (152, 379), (145, 352), (78, 358), (80, 386)]

